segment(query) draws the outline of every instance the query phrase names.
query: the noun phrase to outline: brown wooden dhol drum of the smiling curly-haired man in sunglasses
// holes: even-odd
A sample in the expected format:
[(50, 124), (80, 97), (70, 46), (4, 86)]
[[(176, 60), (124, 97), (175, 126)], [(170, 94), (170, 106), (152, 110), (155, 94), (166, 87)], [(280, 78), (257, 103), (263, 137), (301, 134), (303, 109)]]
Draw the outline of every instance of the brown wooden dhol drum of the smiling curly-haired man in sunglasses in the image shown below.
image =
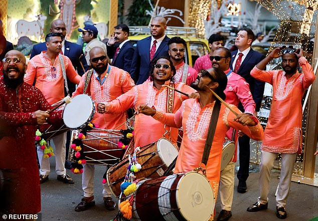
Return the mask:
[[(163, 176), (177, 156), (178, 150), (176, 147), (169, 140), (161, 138), (156, 142), (142, 147), (141, 150), (136, 153), (136, 158), (141, 165), (141, 170), (134, 173), (134, 175), (136, 179)], [(120, 184), (124, 181), (128, 165), (128, 158), (124, 158), (121, 162), (107, 170), (107, 183), (116, 197), (120, 195)]]

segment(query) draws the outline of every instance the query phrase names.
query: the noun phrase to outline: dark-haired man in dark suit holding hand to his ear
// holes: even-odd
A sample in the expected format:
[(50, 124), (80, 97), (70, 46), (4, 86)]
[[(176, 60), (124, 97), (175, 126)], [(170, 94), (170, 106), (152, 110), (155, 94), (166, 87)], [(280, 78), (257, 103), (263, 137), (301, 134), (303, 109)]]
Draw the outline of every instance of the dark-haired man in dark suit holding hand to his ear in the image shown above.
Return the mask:
[(129, 43), (129, 28), (125, 24), (114, 27), (114, 35), (111, 35), (106, 46), (107, 55), (112, 58), (112, 66), (129, 72), (134, 49)]

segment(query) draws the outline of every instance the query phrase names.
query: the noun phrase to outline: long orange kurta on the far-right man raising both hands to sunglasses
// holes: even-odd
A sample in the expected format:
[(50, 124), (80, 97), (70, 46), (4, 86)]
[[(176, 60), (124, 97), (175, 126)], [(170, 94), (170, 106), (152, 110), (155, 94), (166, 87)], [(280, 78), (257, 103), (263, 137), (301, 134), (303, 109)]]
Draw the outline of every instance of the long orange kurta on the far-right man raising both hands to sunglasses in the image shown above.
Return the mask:
[(274, 153), (295, 153), (302, 150), (301, 99), (315, 79), (312, 67), (299, 58), (303, 70), (289, 79), (282, 70), (262, 71), (254, 67), (251, 76), (273, 86), (273, 99), (261, 149)]

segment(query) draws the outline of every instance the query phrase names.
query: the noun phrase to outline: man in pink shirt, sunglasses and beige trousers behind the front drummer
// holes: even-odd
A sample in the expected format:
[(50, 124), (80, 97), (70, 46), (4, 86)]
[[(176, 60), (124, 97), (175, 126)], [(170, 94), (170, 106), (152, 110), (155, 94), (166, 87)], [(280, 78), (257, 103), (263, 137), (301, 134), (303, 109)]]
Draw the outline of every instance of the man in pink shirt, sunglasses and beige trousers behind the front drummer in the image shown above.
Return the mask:
[[(238, 106), (241, 102), (245, 113), (248, 115), (254, 115), (255, 113), (255, 102), (253, 100), (251, 91), (248, 83), (234, 73), (230, 69), (231, 52), (227, 48), (216, 49), (212, 56), (212, 67), (219, 68), (223, 71), (228, 79), (226, 89), (224, 93), (226, 95), (225, 101), (229, 104)], [(212, 69), (208, 69), (211, 72)], [(227, 138), (232, 139), (233, 128), (227, 132)], [(235, 144), (237, 145), (237, 131), (235, 134)], [(228, 220), (232, 216), (231, 207), (233, 202), (234, 193), (234, 167), (236, 162), (236, 148), (234, 156), (229, 164), (221, 171), (220, 175), (220, 199), (221, 199), (221, 212), (218, 216), (218, 221)]]

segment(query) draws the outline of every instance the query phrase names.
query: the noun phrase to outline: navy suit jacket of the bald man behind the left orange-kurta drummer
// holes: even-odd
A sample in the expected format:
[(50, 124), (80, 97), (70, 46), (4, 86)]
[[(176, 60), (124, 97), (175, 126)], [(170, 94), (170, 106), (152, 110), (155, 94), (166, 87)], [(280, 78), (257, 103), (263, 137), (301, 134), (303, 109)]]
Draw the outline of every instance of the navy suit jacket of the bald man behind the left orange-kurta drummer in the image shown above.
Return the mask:
[[(87, 70), (87, 63), (86, 63), (86, 59), (83, 53), (83, 49), (80, 45), (74, 44), (72, 42), (68, 42), (65, 40), (65, 45), (64, 45), (64, 54), (65, 56), (67, 56), (71, 62), (72, 65), (74, 66), (75, 70), (77, 71), (77, 73), (82, 76)], [(41, 54), (42, 51), (47, 51), (47, 47), (45, 42), (43, 43), (39, 43), (37, 45), (33, 46), (32, 52), (31, 52), (31, 56), (30, 59), (32, 59), (34, 56)], [(83, 64), (83, 67), (85, 69), (85, 72), (80, 64), (80, 60), (79, 57), (82, 55), (81, 58), (81, 62)], [(72, 96), (72, 93), (75, 91), (75, 84), (72, 83), (68, 78), (67, 78), (67, 85), (70, 91), (70, 95)]]

